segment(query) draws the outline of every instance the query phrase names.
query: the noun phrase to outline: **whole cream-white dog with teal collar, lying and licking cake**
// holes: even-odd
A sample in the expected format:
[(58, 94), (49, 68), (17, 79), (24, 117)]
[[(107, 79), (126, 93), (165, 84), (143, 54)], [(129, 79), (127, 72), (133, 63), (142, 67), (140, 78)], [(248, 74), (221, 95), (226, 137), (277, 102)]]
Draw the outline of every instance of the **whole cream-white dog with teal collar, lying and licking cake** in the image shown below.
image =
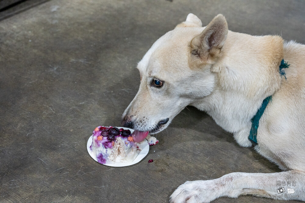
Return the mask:
[(246, 194), (305, 201), (304, 67), (305, 45), (229, 31), (222, 15), (202, 27), (190, 13), (138, 63), (140, 88), (122, 124), (159, 132), (191, 105), (233, 133), (239, 145), (252, 146), (252, 137), (256, 151), (283, 170), (188, 181), (170, 202), (210, 202)]

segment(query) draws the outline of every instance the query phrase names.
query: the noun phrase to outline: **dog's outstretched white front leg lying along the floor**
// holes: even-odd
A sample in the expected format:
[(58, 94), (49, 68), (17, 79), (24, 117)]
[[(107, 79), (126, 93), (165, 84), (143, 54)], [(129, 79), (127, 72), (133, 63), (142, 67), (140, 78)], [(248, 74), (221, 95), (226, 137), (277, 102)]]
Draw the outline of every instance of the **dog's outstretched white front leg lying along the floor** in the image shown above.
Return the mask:
[[(287, 187), (287, 184), (290, 186)], [(280, 187), (285, 192), (278, 193)], [(295, 192), (288, 193), (287, 188), (294, 189)], [(279, 192), (281, 191), (280, 189)], [(210, 202), (219, 197), (237, 198), (247, 194), (278, 200), (305, 201), (305, 172), (229, 173), (213, 180), (187, 181), (174, 191), (169, 202)]]

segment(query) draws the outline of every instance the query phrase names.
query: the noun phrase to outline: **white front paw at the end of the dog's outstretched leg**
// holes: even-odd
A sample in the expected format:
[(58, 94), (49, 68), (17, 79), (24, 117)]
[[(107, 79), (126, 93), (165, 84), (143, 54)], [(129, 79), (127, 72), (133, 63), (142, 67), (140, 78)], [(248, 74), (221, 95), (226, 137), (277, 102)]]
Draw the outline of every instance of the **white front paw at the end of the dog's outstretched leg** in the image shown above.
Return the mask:
[(215, 179), (187, 181), (170, 195), (168, 202), (210, 202), (219, 196), (220, 191), (217, 190)]

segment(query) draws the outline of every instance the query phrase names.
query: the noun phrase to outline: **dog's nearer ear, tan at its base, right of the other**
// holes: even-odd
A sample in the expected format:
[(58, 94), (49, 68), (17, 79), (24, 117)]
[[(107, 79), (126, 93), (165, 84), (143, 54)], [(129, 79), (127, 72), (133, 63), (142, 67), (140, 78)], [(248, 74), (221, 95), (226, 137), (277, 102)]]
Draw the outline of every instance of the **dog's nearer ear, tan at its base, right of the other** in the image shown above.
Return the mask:
[(228, 23), (223, 15), (218, 14), (206, 26), (202, 33), (191, 41), (192, 56), (200, 58), (201, 61), (217, 58), (227, 39)]

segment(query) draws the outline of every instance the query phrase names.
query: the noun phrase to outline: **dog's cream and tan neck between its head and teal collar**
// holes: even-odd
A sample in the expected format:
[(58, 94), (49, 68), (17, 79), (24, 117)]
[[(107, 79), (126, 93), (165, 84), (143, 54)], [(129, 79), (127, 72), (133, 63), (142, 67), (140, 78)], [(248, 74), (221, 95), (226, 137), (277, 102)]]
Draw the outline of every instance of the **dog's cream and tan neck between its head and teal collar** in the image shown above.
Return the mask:
[(262, 101), (279, 89), (283, 40), (229, 31), (222, 53), (211, 69), (215, 73), (214, 91), (192, 105), (206, 111), (225, 130), (236, 133), (250, 126)]

